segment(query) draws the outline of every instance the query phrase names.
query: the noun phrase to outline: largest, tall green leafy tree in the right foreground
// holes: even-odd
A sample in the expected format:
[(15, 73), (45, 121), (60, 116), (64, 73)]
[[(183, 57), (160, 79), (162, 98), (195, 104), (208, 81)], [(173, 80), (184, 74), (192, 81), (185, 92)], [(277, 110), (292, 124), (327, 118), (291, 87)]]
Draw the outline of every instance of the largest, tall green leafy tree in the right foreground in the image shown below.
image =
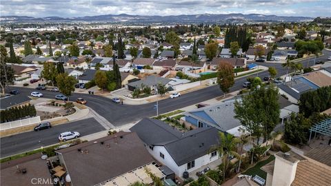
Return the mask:
[(234, 103), (234, 117), (239, 119), (244, 131), (257, 139), (263, 136), (266, 141), (279, 122), (278, 99), (278, 89), (273, 84), (255, 88)]

